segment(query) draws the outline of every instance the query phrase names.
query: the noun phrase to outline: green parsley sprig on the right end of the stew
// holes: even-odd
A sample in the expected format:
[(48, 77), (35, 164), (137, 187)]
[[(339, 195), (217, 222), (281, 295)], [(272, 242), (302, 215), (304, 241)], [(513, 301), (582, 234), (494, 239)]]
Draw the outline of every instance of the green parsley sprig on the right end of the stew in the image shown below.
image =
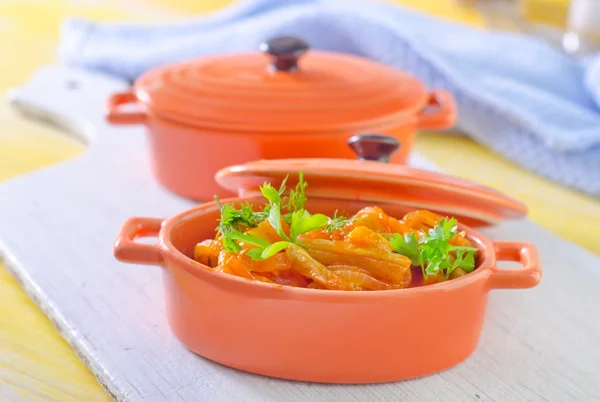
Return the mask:
[(455, 218), (444, 218), (419, 239), (414, 233), (404, 236), (395, 233), (389, 240), (396, 253), (407, 256), (413, 265), (421, 267), (425, 278), (439, 272), (449, 277), (456, 268), (471, 272), (475, 269), (477, 249), (449, 243), (457, 234), (456, 223)]

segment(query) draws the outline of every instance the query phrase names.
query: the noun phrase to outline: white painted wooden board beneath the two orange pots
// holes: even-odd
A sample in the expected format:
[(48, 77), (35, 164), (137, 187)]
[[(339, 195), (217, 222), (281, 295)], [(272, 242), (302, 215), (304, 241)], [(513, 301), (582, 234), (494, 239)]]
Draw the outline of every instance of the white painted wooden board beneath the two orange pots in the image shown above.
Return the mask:
[[(68, 89), (68, 81), (77, 89)], [(5, 262), (117, 400), (600, 400), (600, 259), (529, 221), (484, 232), (535, 243), (544, 264), (541, 284), (492, 291), (479, 347), (453, 369), (391, 384), (316, 385), (242, 373), (189, 352), (167, 326), (160, 269), (125, 265), (112, 255), (125, 219), (169, 217), (192, 205), (151, 177), (142, 128), (103, 121), (106, 97), (126, 86), (89, 73), (41, 70), (13, 102), (85, 133), (90, 147), (0, 185)]]

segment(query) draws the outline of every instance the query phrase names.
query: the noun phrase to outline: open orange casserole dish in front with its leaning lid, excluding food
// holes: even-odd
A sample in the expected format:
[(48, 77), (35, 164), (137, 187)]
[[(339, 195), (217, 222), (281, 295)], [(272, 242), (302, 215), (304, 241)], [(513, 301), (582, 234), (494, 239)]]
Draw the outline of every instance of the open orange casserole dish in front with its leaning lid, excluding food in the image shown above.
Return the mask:
[[(222, 170), (219, 184), (240, 193), (223, 204), (264, 203), (258, 185), (286, 174), (309, 183), (307, 209), (354, 213), (379, 205), (392, 216), (429, 208), (482, 226), (518, 219), (524, 207), (490, 189), (440, 174), (373, 161), (258, 161)], [(488, 292), (536, 286), (533, 245), (493, 242), (459, 224), (478, 251), (476, 269), (457, 279), (397, 290), (297, 288), (240, 278), (196, 262), (195, 245), (215, 236), (209, 202), (170, 219), (131, 218), (117, 259), (163, 268), (170, 327), (189, 349), (237, 369), (293, 380), (373, 383), (414, 378), (460, 363), (476, 348)], [(157, 236), (155, 244), (135, 239)], [(499, 269), (518, 261), (522, 269)], [(443, 336), (440, 336), (443, 334)]]

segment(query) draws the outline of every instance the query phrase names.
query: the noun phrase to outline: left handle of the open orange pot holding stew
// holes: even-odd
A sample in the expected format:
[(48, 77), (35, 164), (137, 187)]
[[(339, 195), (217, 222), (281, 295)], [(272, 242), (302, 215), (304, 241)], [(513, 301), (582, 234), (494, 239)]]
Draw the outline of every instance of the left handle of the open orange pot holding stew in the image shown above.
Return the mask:
[(163, 256), (156, 244), (142, 244), (135, 241), (141, 236), (158, 236), (163, 219), (130, 218), (123, 224), (115, 241), (115, 258), (131, 264), (162, 265)]

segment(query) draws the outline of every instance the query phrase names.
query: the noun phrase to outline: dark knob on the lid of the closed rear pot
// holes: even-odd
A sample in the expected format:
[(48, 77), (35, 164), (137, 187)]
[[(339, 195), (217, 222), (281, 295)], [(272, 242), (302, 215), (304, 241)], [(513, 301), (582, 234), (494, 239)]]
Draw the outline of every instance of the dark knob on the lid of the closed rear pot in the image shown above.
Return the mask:
[(271, 58), (273, 71), (298, 70), (298, 59), (309, 49), (308, 43), (293, 36), (279, 36), (260, 44), (260, 51)]

